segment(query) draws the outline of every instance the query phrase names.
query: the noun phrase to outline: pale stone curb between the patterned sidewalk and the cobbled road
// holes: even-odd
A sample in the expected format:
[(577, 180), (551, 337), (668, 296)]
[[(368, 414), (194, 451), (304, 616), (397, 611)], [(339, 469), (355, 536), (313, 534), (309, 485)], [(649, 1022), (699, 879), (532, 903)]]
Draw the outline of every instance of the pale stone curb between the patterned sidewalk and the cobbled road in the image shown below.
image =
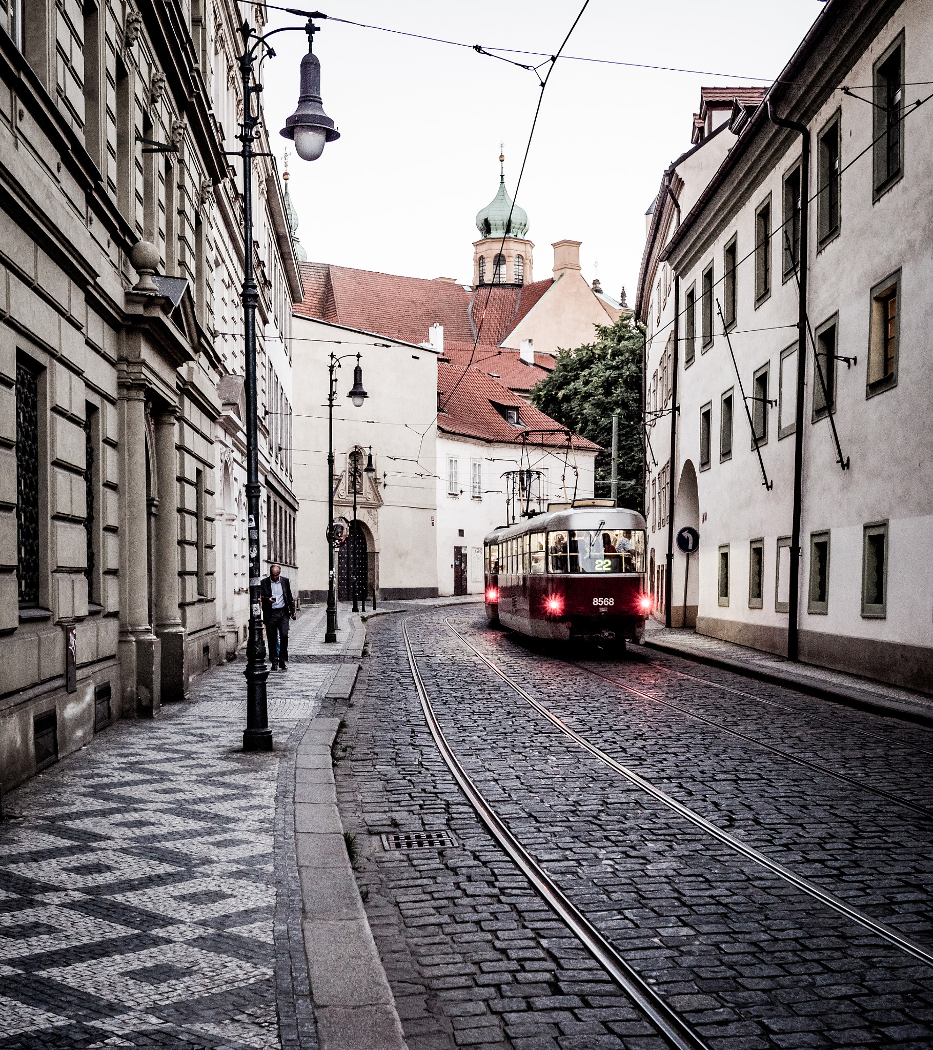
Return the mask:
[(339, 727), (339, 718), (315, 718), (295, 758), (295, 852), (318, 1040), (321, 1050), (407, 1050), (343, 839), (331, 759)]

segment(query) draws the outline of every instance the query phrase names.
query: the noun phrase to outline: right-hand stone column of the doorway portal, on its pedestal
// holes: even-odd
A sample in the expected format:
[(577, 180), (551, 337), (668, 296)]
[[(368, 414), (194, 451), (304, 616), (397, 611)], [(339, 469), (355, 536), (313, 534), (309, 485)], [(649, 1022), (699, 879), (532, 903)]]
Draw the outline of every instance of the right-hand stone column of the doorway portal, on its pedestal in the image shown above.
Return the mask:
[(155, 633), (162, 643), (162, 699), (183, 700), (188, 681), (185, 627), (178, 612), (178, 410), (171, 405), (155, 417), (155, 467), (158, 517), (155, 520)]

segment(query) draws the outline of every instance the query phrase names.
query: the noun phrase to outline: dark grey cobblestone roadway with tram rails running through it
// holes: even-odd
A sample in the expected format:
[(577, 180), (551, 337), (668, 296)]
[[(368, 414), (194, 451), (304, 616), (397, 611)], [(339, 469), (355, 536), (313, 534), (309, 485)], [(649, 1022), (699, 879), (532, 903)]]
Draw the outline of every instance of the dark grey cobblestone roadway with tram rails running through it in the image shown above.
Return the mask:
[[(606, 752), (928, 949), (933, 825), (831, 772), (931, 806), (933, 733), (676, 657), (587, 663), (677, 712), (487, 630), (482, 612), (408, 622), (444, 732), (490, 804), (715, 1050), (933, 1043), (933, 969), (599, 764), (495, 678), (445, 615)], [(659, 1045), (462, 798), (424, 724), (400, 621), (367, 624), (372, 657), (340, 737), (338, 792), (409, 1047)], [(422, 830), (448, 831), (457, 845), (387, 852), (379, 838)]]

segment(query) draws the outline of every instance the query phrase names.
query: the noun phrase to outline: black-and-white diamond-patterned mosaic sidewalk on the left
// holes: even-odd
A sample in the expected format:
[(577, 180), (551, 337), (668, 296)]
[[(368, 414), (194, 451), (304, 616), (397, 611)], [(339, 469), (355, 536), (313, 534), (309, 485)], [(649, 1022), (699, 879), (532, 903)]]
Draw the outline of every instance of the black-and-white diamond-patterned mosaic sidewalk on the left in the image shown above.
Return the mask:
[(314, 1045), (276, 797), (334, 669), (270, 677), (267, 755), (240, 750), (242, 670), (210, 671), (189, 700), (115, 722), (5, 799), (2, 1050)]

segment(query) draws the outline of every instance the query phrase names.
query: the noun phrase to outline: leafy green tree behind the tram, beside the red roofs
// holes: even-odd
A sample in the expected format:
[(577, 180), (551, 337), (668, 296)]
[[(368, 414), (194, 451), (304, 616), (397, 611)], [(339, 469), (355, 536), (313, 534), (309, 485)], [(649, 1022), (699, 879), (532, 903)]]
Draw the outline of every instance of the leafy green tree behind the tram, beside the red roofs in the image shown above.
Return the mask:
[(557, 366), (531, 392), (531, 402), (602, 447), (596, 495), (610, 495), (612, 414), (619, 413), (619, 506), (641, 511), (641, 329), (629, 315), (597, 324), (596, 341), (559, 350)]

